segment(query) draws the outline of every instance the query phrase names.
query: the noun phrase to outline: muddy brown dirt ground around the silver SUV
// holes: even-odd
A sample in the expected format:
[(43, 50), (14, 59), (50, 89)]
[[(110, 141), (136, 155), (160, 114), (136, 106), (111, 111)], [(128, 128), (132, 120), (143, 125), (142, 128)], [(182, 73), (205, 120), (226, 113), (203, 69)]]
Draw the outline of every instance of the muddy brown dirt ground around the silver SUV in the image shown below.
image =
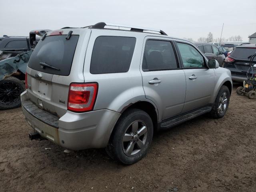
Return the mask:
[(48, 140), (30, 141), (21, 108), (0, 111), (0, 191), (255, 192), (256, 100), (236, 87), (224, 118), (205, 115), (155, 134), (131, 166), (104, 149), (66, 154)]

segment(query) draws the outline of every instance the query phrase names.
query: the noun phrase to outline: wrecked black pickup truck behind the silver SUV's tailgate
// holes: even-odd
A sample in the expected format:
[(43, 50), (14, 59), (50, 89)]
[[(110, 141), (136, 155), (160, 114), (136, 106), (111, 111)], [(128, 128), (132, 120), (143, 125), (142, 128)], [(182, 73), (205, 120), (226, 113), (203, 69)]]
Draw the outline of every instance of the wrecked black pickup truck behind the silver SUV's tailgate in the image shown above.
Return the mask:
[(28, 60), (40, 36), (48, 31), (33, 30), (29, 37), (0, 37), (0, 110), (20, 106)]

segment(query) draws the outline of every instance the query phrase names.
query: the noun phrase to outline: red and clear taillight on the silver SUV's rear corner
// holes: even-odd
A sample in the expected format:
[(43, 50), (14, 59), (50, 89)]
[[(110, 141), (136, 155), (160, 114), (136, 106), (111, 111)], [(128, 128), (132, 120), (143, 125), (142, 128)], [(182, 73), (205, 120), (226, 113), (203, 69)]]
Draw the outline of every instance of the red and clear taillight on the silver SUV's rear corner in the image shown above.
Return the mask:
[(68, 110), (74, 112), (92, 110), (97, 91), (97, 83), (71, 83), (68, 92)]

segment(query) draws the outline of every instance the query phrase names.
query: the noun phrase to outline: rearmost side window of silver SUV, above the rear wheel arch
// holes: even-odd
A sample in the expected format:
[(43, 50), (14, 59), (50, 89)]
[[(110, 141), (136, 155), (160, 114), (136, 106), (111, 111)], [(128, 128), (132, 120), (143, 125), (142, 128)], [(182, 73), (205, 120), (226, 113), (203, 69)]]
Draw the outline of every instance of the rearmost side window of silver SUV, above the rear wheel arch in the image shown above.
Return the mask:
[(92, 74), (127, 72), (130, 68), (136, 38), (100, 36), (92, 50)]

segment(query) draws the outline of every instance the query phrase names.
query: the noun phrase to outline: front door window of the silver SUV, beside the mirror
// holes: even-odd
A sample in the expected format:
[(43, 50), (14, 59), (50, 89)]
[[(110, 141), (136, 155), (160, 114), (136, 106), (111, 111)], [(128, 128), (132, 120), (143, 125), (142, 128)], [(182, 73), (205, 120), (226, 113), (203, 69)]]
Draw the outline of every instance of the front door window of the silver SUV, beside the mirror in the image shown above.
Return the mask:
[(204, 67), (204, 58), (193, 46), (177, 43), (184, 67)]

